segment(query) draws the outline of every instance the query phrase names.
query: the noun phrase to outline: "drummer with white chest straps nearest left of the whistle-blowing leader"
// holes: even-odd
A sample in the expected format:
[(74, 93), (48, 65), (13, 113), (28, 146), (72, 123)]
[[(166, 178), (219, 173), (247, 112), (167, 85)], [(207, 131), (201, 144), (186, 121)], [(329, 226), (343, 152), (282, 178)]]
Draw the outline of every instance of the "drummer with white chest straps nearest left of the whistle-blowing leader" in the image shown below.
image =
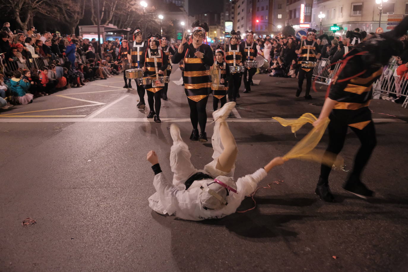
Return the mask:
[[(160, 39), (162, 38), (159, 34), (152, 36), (151, 33), (147, 34), (149, 40), (148, 49), (146, 53), (142, 55), (140, 60), (140, 66), (144, 71), (144, 77), (151, 77), (152, 82), (157, 79), (158, 76), (163, 76), (163, 71), (167, 69), (169, 60), (167, 55), (162, 51), (160, 46)], [(147, 102), (149, 103), (150, 112), (147, 118), (153, 118), (154, 122), (161, 123), (160, 120), (160, 107), (162, 106), (162, 86), (153, 87), (152, 84), (143, 85), (143, 88), (147, 91)]]

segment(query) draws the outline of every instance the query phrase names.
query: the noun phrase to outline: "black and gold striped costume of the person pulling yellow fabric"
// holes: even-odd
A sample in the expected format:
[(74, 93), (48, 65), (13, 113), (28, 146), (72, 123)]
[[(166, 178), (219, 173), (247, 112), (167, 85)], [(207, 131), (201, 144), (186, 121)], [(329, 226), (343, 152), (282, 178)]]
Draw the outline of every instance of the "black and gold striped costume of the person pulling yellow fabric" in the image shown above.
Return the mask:
[[(350, 175), (357, 179), (376, 145), (374, 123), (368, 105), (373, 96), (373, 82), (383, 71), (379, 65), (364, 67), (361, 55), (355, 55), (358, 52), (353, 50), (345, 56), (353, 57), (348, 60), (344, 69), (335, 78), (335, 83), (330, 86), (328, 97), (335, 100), (336, 104), (329, 116), (329, 144), (326, 149), (327, 152), (337, 155), (343, 148), (348, 128), (353, 130), (361, 142), (353, 170), (350, 172)], [(358, 75), (359, 73), (362, 74)], [(327, 180), (330, 170), (330, 167), (322, 165), (320, 176)]]

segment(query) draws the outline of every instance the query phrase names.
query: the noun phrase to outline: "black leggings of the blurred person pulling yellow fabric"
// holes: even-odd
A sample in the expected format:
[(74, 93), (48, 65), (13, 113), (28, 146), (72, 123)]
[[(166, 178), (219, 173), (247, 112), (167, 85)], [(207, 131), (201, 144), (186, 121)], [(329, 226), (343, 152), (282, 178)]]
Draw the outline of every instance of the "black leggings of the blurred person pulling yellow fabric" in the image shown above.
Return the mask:
[[(329, 118), (329, 145), (326, 149), (326, 155), (328, 156), (330, 153), (333, 153), (335, 155), (340, 153), (346, 139), (347, 129), (349, 127), (345, 122), (342, 122), (337, 117), (335, 117), (333, 113), (330, 114)], [(357, 155), (354, 159), (353, 170), (352, 172), (350, 172), (350, 175), (353, 175), (357, 179), (359, 179), (361, 176), (361, 172), (363, 172), (364, 167), (368, 162), (368, 159), (370, 159), (371, 153), (373, 153), (375, 145), (377, 144), (377, 139), (375, 137), (373, 120), (371, 120), (371, 122), (361, 130), (354, 127), (350, 128), (354, 131), (361, 142), (360, 149), (357, 151)], [(333, 162), (334, 159), (335, 157), (333, 158)], [(320, 168), (320, 177), (322, 177), (322, 179), (328, 179), (330, 171), (331, 167), (322, 164)]]

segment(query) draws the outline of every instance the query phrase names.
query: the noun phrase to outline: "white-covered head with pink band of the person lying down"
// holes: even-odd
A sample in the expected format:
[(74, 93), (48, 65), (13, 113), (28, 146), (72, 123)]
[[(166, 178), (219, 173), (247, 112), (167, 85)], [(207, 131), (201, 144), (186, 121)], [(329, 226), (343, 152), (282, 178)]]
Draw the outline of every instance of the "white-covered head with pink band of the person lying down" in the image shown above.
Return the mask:
[(228, 204), (227, 197), (231, 193), (237, 193), (237, 185), (231, 177), (218, 176), (213, 182), (208, 182), (201, 189), (204, 191), (200, 196), (202, 206), (206, 209), (218, 210)]

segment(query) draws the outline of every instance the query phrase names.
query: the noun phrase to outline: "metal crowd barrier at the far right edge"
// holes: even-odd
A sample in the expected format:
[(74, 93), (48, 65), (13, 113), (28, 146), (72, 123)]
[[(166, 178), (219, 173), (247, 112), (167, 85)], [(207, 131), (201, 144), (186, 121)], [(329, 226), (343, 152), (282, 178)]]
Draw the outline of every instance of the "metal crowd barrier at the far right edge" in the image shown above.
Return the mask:
[[(405, 97), (402, 106), (408, 106), (408, 71), (403, 75), (397, 75), (398, 64), (388, 64), (384, 66), (380, 78), (373, 84), (373, 93), (381, 95), (394, 94), (397, 97)], [(374, 95), (375, 96), (375, 95)]]

